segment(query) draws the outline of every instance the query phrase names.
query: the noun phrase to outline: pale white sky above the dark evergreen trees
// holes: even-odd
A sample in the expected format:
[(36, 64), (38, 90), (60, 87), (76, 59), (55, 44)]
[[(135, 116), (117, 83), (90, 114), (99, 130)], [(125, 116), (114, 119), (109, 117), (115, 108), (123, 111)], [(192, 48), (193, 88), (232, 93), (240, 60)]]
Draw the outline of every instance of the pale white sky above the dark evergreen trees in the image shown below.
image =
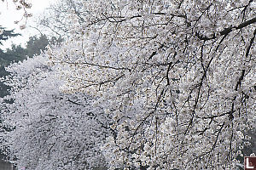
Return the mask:
[(55, 0), (30, 0), (27, 2), (32, 3), (32, 8), (28, 12), (32, 13), (32, 17), (27, 21), (27, 28), (20, 30), (20, 25), (15, 24), (15, 20), (20, 20), (22, 18), (23, 12), (17, 11), (12, 0), (5, 0), (3, 3), (0, 1), (0, 26), (6, 27), (8, 30), (15, 29), (16, 33), (22, 34), (20, 37), (14, 37), (9, 39), (9, 41), (3, 43), (3, 48), (9, 48), (12, 43), (21, 44), (24, 46), (29, 37), (38, 34), (38, 31), (30, 28), (33, 26), (33, 22), (38, 18), (39, 14), (44, 13), (44, 9), (49, 7), (49, 2), (54, 2)]

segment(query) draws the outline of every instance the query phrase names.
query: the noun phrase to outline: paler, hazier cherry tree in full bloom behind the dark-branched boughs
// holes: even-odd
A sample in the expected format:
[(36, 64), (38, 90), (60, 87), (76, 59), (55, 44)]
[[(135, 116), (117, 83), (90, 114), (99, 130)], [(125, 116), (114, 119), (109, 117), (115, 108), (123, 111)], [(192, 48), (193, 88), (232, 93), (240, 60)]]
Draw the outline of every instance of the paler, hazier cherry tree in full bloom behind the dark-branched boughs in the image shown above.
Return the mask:
[(55, 67), (39, 55), (6, 68), (14, 87), (1, 104), (1, 149), (26, 169), (91, 169), (105, 165), (100, 149), (110, 118), (89, 95), (62, 94)]

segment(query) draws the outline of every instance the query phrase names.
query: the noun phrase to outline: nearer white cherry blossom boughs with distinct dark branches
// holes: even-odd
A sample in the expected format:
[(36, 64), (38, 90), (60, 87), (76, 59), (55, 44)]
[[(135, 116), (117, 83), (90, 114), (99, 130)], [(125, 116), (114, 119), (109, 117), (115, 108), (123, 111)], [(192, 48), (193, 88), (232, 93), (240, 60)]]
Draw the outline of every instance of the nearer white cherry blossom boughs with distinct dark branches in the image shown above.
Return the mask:
[[(255, 1), (84, 1), (49, 49), (66, 79), (113, 116), (114, 168), (230, 169), (255, 128)], [(240, 152), (238, 152), (240, 153)]]

